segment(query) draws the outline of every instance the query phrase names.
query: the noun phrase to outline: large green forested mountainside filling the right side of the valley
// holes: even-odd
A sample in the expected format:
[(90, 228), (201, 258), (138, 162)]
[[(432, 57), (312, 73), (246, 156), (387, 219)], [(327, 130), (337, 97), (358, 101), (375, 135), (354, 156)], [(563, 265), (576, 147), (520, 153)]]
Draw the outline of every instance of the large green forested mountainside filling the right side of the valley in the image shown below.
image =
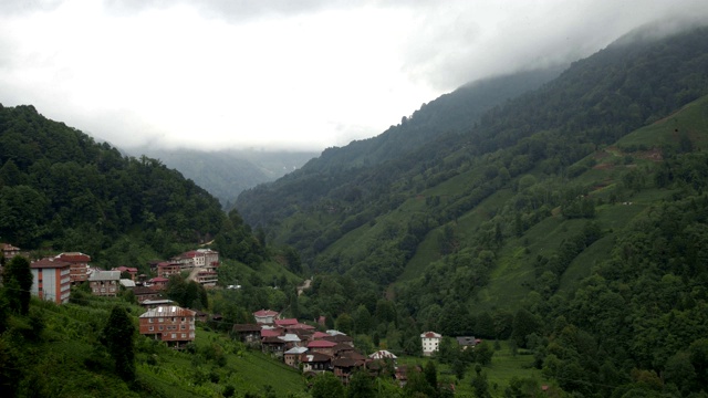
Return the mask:
[(511, 338), (579, 396), (697, 394), (708, 29), (647, 36), (391, 160), (325, 151), (238, 208), (319, 275), (302, 314), (407, 353), (426, 329)]

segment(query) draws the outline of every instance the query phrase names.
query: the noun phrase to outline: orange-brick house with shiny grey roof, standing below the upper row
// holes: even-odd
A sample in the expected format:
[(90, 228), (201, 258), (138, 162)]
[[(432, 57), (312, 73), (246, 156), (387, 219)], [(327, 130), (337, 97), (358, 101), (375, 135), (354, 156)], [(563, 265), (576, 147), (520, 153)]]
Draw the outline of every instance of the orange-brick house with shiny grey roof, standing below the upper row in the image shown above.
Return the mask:
[(140, 334), (183, 347), (195, 339), (195, 312), (176, 305), (158, 306), (139, 317)]

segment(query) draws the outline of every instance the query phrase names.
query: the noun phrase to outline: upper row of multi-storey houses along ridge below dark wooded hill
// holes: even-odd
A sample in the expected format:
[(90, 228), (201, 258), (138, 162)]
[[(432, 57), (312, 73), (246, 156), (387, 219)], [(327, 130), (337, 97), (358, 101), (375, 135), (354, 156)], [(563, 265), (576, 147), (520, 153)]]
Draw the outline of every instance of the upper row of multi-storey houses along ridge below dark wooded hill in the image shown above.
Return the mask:
[[(15, 255), (27, 255), (20, 253), (19, 248), (7, 243), (0, 243), (0, 251), (6, 260)], [(216, 286), (218, 282), (219, 253), (210, 249), (192, 250), (174, 256), (169, 261), (150, 263), (152, 271), (157, 275), (152, 279), (145, 274), (138, 275), (136, 268), (117, 266), (106, 271), (92, 268), (90, 262), (91, 256), (81, 252), (60, 253), (31, 261), (32, 294), (63, 304), (69, 302), (71, 286), (88, 282), (94, 295), (116, 296), (121, 286), (124, 286), (132, 290), (137, 301), (142, 303), (158, 298), (160, 292), (167, 286), (169, 276), (184, 271), (189, 272), (190, 280), (205, 287)]]

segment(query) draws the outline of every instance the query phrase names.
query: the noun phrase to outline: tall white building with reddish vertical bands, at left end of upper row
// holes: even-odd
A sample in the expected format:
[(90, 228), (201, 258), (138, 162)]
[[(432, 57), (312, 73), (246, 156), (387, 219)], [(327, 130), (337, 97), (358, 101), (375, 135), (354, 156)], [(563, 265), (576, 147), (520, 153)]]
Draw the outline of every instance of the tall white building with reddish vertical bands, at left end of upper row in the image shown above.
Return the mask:
[(30, 263), (33, 295), (56, 304), (69, 302), (71, 293), (71, 263), (52, 258)]

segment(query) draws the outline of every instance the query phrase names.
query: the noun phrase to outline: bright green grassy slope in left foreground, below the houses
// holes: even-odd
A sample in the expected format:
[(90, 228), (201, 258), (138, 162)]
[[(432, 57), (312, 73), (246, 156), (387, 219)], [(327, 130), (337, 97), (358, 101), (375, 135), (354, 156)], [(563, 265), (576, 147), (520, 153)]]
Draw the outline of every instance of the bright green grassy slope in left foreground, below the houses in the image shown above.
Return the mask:
[[(77, 396), (87, 391), (101, 396), (106, 396), (107, 391), (128, 396), (131, 392), (127, 387), (111, 369), (87, 365), (86, 360), (96, 357), (95, 350), (101, 344), (97, 342), (98, 333), (94, 331), (103, 328), (113, 305), (126, 306), (135, 315), (143, 310), (112, 298), (87, 297), (84, 304), (33, 304), (45, 324), (41, 350), (51, 355), (44, 356), (37, 368), (28, 371), (32, 374), (42, 367), (54, 369), (48, 374), (51, 377), (45, 377), (42, 381), (45, 390), (55, 391), (58, 397)], [(135, 323), (137, 324), (137, 317)], [(270, 386), (278, 396), (285, 396), (291, 391), (302, 391), (304, 387), (296, 369), (260, 352), (246, 350), (228, 336), (204, 328), (197, 329), (197, 352), (201, 353), (210, 345), (219, 346), (227, 358), (225, 366), (218, 366), (194, 354), (168, 349), (142, 336), (137, 338), (136, 364), (140, 387), (134, 391), (136, 396), (220, 397), (227, 385), (233, 386), (237, 391), (254, 394), (262, 394), (269, 388), (266, 386)], [(150, 363), (148, 359), (154, 360)], [(202, 375), (200, 383), (197, 381), (199, 375)], [(212, 383), (215, 377), (218, 383)], [(111, 394), (107, 396), (113, 396)]]

